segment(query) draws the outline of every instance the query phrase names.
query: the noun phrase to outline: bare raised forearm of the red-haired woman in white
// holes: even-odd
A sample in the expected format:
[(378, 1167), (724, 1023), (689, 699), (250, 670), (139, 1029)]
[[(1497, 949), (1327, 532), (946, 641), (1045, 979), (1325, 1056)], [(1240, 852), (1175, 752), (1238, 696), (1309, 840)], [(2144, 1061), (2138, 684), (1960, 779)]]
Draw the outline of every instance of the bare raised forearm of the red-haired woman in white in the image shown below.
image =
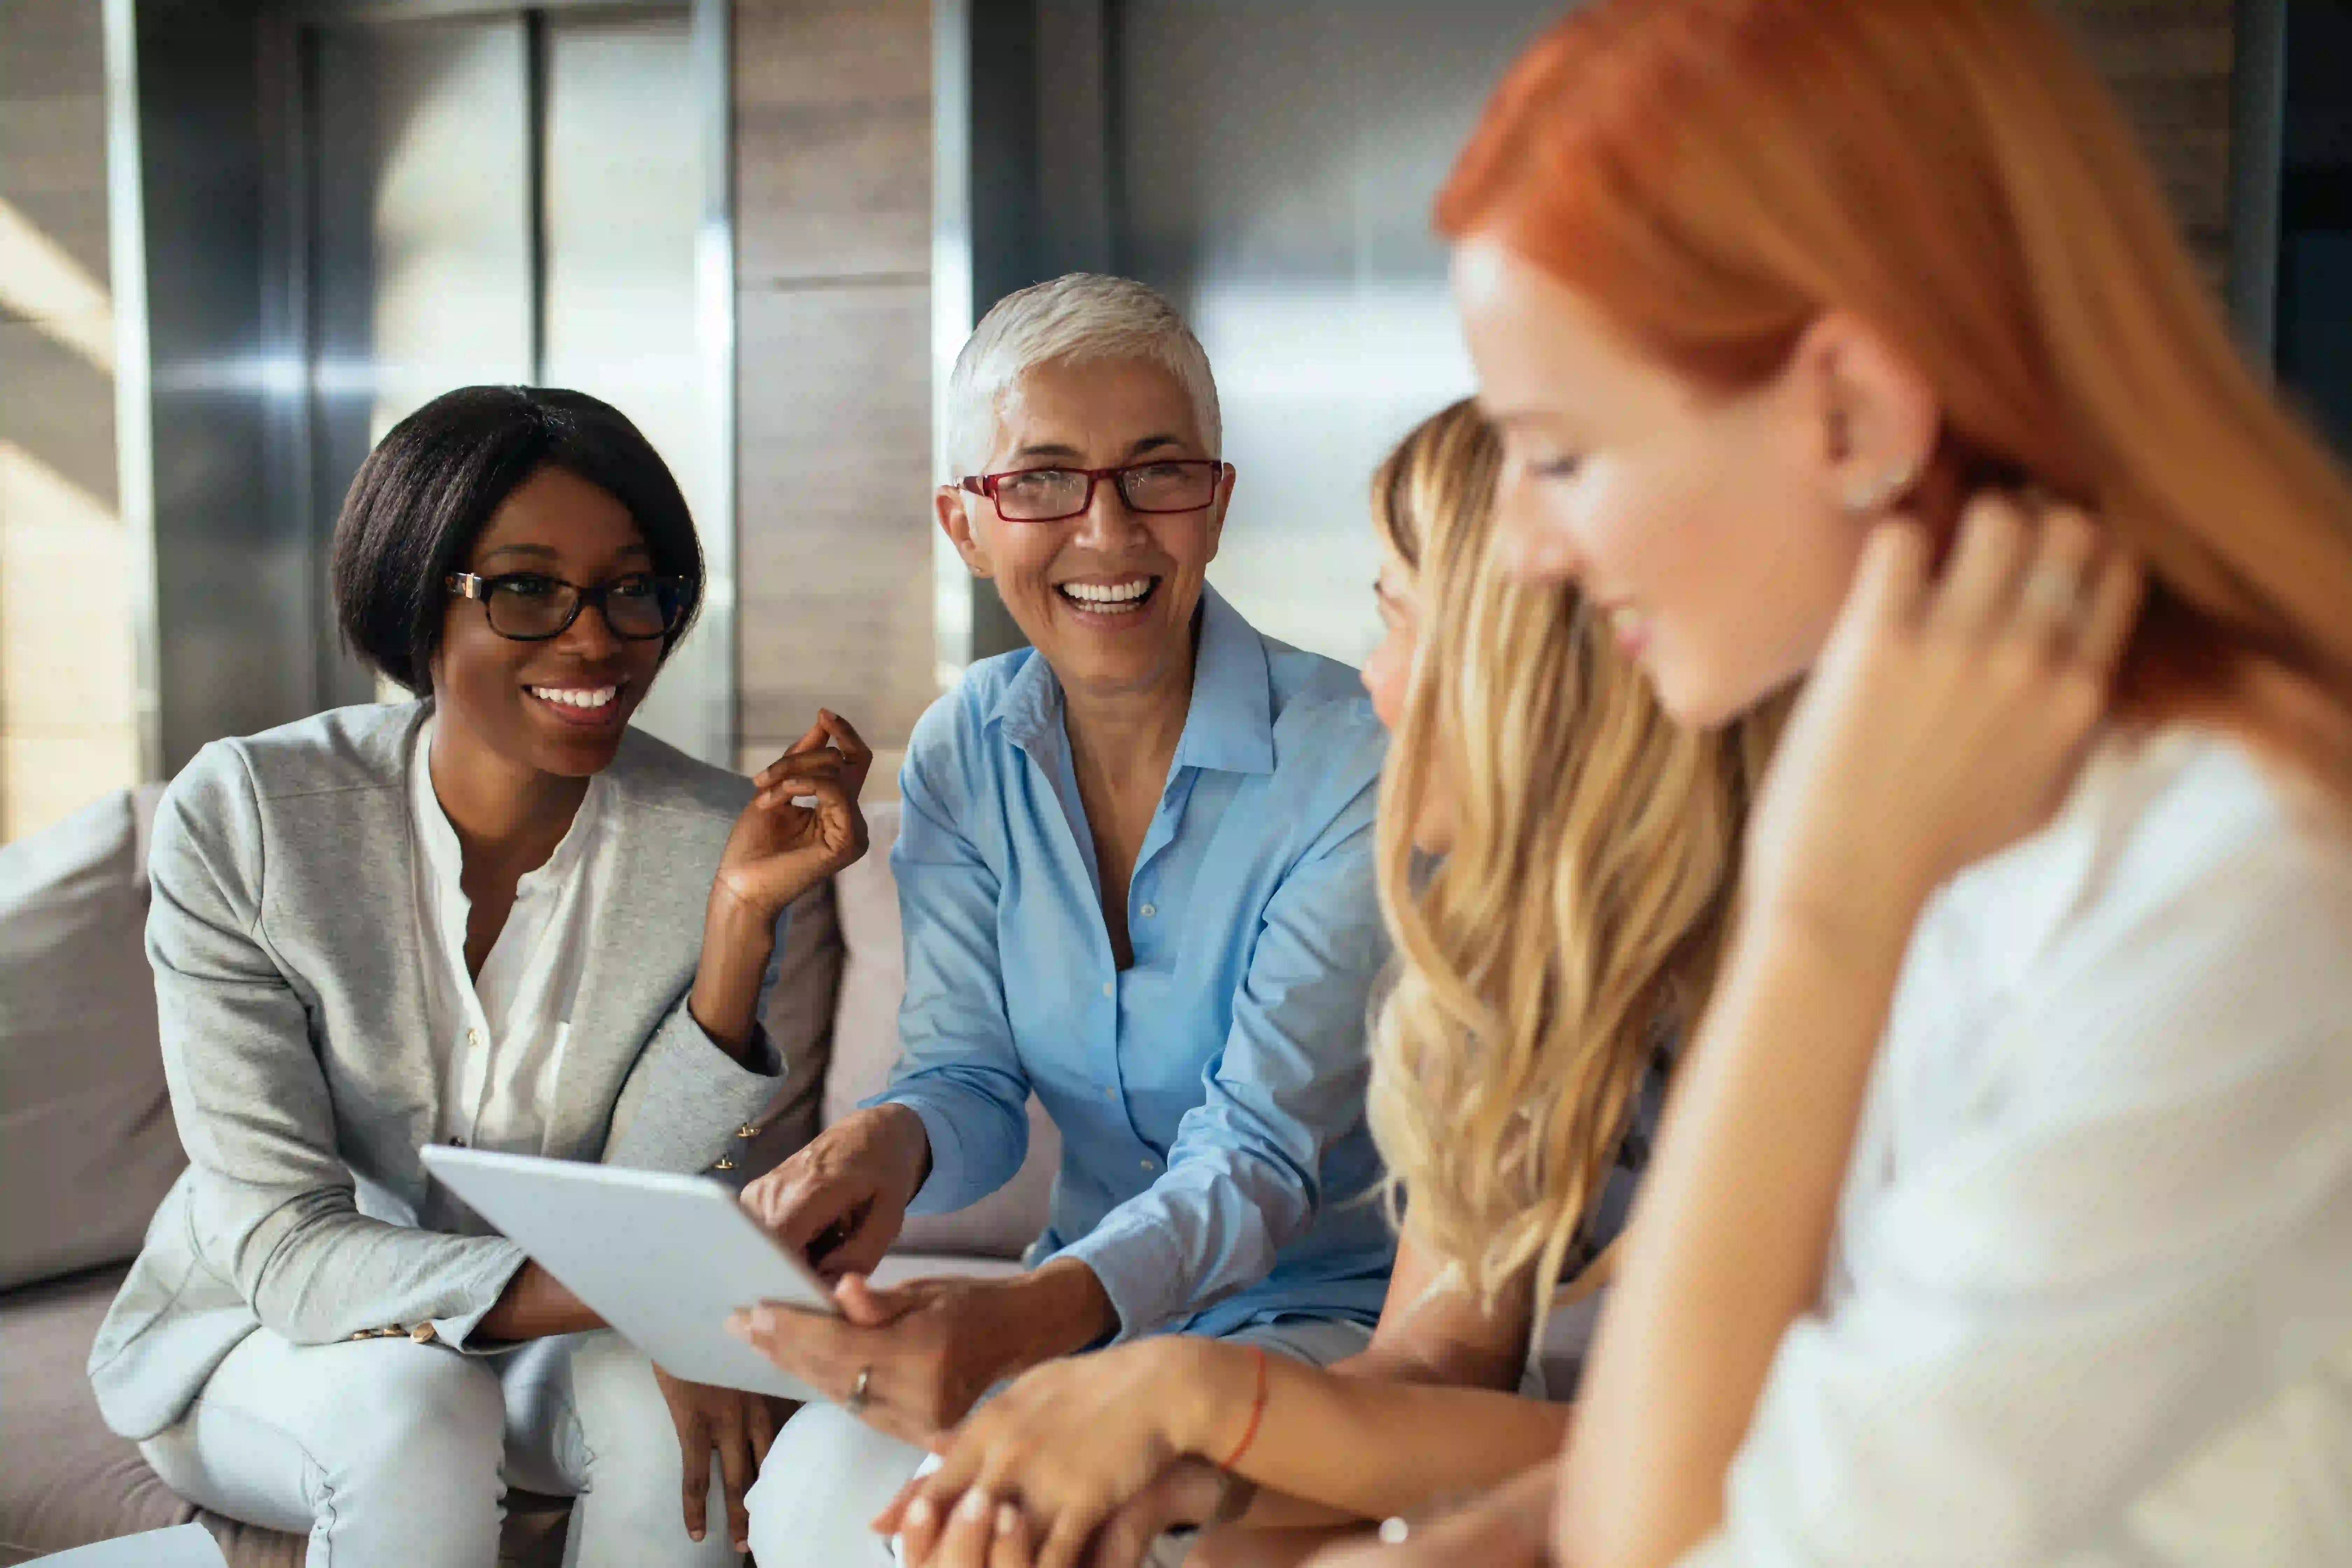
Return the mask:
[(1569, 1455), (1564, 1561), (1672, 1563), (1818, 1298), (1910, 919), (1743, 922), (1628, 1239)]

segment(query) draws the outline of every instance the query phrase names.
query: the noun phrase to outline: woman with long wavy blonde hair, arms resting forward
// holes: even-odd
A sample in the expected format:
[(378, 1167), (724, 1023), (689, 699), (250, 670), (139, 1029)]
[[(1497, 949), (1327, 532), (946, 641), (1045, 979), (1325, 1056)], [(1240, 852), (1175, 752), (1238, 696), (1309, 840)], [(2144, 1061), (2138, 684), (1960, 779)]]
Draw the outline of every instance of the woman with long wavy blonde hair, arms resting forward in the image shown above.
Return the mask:
[(1040, 1368), (882, 1516), (910, 1563), (1063, 1568), (1089, 1542), (1131, 1563), (1211, 1516), (1230, 1523), (1195, 1566), (1294, 1563), (1557, 1450), (1538, 1319), (1623, 1225), (1764, 722), (1675, 731), (1573, 592), (1486, 569), (1498, 465), (1461, 402), (1374, 480), (1388, 639), (1364, 684), (1395, 731), (1381, 893), (1402, 966), (1371, 1126), (1404, 1239), (1371, 1347), (1319, 1371), (1183, 1338)]

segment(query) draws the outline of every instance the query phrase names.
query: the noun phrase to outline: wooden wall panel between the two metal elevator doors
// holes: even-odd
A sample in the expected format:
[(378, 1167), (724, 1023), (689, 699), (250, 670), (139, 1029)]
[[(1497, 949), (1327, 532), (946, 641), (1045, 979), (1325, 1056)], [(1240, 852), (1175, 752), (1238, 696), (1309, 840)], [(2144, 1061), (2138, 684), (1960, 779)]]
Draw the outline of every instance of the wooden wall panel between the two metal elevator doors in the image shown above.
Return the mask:
[(736, 0), (734, 56), (743, 757), (818, 705), (896, 752), (936, 696), (931, 7)]

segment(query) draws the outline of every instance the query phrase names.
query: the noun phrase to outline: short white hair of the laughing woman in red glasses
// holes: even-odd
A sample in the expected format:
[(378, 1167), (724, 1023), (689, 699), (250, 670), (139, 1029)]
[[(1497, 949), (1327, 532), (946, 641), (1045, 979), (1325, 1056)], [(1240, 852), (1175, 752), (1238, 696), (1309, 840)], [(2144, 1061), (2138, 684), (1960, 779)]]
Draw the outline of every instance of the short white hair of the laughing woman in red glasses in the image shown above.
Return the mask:
[(1000, 299), (971, 329), (948, 376), (948, 484), (981, 473), (997, 437), (1004, 395), (1054, 360), (1148, 360), (1192, 400), (1209, 456), (1223, 456), (1225, 421), (1216, 376), (1176, 306), (1134, 277), (1063, 273)]

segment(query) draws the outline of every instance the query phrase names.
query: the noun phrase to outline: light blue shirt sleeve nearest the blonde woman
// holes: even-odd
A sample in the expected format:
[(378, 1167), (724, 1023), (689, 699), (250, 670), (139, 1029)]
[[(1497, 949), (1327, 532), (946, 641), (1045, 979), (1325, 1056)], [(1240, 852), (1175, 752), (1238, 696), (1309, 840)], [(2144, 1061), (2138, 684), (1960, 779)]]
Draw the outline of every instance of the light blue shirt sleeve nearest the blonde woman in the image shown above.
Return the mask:
[(1385, 959), (1374, 804), (1364, 783), (1268, 900), (1232, 1027), (1167, 1171), (1061, 1253), (1103, 1281), (1122, 1340), (1261, 1281), (1334, 1197), (1324, 1152), (1362, 1119), (1364, 997)]

